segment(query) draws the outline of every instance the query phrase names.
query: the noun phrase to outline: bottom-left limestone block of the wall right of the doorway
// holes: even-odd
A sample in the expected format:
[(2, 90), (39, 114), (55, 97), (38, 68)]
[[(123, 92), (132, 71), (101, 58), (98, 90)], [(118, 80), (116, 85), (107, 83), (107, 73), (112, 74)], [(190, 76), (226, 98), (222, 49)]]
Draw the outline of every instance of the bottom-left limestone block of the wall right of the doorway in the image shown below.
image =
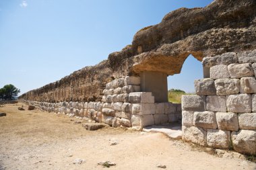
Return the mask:
[(206, 146), (207, 132), (203, 128), (195, 126), (182, 126), (183, 140), (185, 142), (192, 142), (201, 146)]

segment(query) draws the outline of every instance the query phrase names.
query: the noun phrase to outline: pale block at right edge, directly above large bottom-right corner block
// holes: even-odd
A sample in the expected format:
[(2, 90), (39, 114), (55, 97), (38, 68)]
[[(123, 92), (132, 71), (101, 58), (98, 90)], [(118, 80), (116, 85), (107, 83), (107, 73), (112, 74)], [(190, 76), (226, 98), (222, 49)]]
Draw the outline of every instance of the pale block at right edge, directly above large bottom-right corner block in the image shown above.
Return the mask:
[(238, 114), (240, 129), (256, 130), (256, 113)]

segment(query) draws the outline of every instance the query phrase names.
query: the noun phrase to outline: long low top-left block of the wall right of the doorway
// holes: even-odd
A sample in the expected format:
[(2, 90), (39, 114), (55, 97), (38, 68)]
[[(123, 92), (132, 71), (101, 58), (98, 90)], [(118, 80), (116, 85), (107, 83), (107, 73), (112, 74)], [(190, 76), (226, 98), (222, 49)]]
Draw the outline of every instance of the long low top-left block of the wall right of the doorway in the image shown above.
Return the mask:
[(229, 65), (236, 62), (238, 62), (236, 53), (226, 52), (218, 56), (205, 57), (203, 58), (202, 64), (203, 64), (203, 67), (212, 67), (215, 65)]

